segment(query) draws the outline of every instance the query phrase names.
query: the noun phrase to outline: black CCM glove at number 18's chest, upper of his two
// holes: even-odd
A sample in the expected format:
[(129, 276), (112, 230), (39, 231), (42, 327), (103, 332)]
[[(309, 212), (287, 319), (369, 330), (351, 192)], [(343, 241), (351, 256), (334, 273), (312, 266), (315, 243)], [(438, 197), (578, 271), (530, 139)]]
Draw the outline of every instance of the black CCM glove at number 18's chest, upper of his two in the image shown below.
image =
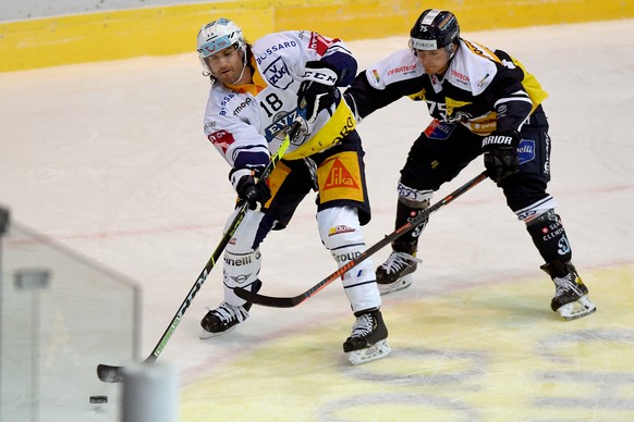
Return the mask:
[(306, 110), (306, 120), (315, 122), (317, 114), (330, 108), (341, 96), (337, 88), (339, 76), (328, 64), (307, 62), (304, 82), (297, 91), (297, 107)]

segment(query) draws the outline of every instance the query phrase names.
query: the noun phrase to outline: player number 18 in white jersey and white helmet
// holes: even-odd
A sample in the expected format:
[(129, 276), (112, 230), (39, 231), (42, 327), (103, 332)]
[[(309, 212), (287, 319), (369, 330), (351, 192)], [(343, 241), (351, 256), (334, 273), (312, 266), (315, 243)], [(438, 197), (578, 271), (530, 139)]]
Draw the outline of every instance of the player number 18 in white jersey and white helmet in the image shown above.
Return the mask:
[[(205, 136), (229, 163), (239, 200), (249, 204), (224, 251), (224, 301), (200, 322), (200, 338), (208, 338), (246, 320), (252, 303), (233, 288), (260, 288), (259, 246), (271, 229), (289, 224), (306, 195), (318, 193), (319, 234), (339, 266), (365, 250), (362, 225), (370, 209), (361, 139), (339, 90), (352, 83), (357, 65), (341, 40), (293, 30), (267, 35), (252, 46), (234, 22), (219, 18), (198, 33), (197, 51), (211, 79)], [(300, 136), (267, 183), (258, 183), (271, 151), (296, 120), (302, 122)], [(343, 288), (356, 316), (343, 344), (350, 361), (388, 356), (371, 262), (345, 273)]]

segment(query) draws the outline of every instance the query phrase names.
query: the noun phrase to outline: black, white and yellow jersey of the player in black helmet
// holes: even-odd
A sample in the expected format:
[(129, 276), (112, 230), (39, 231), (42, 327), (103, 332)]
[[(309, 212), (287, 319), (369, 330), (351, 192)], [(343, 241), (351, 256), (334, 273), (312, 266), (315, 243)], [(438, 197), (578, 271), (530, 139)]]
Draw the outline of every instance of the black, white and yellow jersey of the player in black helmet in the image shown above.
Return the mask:
[(504, 51), (463, 38), (441, 76), (426, 74), (414, 51), (403, 49), (359, 73), (345, 91), (357, 121), (404, 96), (425, 101), (432, 117), (484, 136), (520, 129), (548, 94)]

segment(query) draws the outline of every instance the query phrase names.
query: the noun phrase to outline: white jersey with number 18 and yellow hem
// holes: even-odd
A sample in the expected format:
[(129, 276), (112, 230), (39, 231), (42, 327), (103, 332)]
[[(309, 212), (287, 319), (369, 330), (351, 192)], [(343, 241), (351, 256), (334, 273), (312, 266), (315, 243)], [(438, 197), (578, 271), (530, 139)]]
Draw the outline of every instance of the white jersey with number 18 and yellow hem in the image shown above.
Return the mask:
[[(338, 69), (338, 86), (356, 75), (356, 61), (339, 39), (296, 30), (267, 35), (254, 42), (253, 83), (215, 83), (205, 111), (205, 136), (234, 169), (264, 166), (297, 117), (297, 90), (306, 63), (322, 60)], [(303, 129), (284, 159), (294, 160), (328, 149), (355, 127), (345, 103), (338, 100), (315, 122), (302, 119)]]

